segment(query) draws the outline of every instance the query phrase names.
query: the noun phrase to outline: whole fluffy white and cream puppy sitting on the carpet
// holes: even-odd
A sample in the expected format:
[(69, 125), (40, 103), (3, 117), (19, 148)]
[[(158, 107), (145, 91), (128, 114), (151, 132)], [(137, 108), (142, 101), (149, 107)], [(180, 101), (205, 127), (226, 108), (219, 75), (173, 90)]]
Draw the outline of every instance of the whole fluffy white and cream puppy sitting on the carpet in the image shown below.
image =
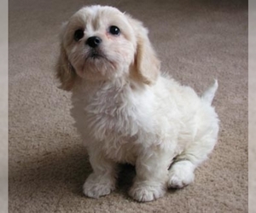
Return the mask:
[(199, 97), (160, 74), (142, 22), (113, 7), (80, 9), (63, 26), (56, 75), (72, 92), (71, 113), (90, 156), (86, 196), (114, 190), (118, 163), (135, 165), (129, 194), (141, 202), (194, 181), (218, 137), (211, 107), (218, 83)]

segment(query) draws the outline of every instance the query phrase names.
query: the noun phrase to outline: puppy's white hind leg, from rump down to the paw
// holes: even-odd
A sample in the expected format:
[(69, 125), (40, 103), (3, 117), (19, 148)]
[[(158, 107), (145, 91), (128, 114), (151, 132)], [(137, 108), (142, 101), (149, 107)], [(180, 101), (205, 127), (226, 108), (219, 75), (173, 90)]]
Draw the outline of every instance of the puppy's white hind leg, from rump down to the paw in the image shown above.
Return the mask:
[[(217, 131), (218, 132), (218, 131)], [(217, 132), (205, 135), (177, 156), (168, 174), (168, 187), (181, 188), (194, 181), (195, 168), (207, 159), (217, 141)]]

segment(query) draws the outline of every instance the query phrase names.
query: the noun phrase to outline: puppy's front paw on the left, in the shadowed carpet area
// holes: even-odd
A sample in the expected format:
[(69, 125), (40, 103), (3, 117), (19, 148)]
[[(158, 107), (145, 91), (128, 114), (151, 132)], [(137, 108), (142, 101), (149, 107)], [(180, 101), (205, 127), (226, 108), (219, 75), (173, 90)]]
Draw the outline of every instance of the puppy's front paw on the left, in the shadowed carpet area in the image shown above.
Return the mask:
[(111, 193), (115, 188), (115, 179), (109, 176), (96, 176), (90, 174), (84, 182), (83, 192), (86, 196), (98, 199)]

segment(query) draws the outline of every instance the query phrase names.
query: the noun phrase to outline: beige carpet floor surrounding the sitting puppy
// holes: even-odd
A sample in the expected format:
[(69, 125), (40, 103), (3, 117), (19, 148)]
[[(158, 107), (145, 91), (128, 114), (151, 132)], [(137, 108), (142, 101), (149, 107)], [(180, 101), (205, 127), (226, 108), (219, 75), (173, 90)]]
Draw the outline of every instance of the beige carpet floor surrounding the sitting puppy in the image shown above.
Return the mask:
[[(70, 94), (57, 89), (61, 22), (91, 3), (143, 20), (162, 70), (201, 93), (218, 78), (218, 146), (195, 182), (140, 204), (127, 195), (134, 170), (101, 199), (83, 196), (91, 168)], [(247, 1), (9, 1), (9, 212), (247, 212)]]

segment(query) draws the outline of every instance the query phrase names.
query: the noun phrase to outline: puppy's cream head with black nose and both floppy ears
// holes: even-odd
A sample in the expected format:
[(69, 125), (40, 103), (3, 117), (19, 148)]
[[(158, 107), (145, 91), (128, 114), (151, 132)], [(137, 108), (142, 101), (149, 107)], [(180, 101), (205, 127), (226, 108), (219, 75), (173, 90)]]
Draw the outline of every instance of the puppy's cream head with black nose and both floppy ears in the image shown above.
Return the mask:
[(160, 62), (143, 24), (112, 7), (80, 9), (63, 26), (57, 77), (70, 90), (78, 78), (108, 81), (134, 78), (154, 83)]

